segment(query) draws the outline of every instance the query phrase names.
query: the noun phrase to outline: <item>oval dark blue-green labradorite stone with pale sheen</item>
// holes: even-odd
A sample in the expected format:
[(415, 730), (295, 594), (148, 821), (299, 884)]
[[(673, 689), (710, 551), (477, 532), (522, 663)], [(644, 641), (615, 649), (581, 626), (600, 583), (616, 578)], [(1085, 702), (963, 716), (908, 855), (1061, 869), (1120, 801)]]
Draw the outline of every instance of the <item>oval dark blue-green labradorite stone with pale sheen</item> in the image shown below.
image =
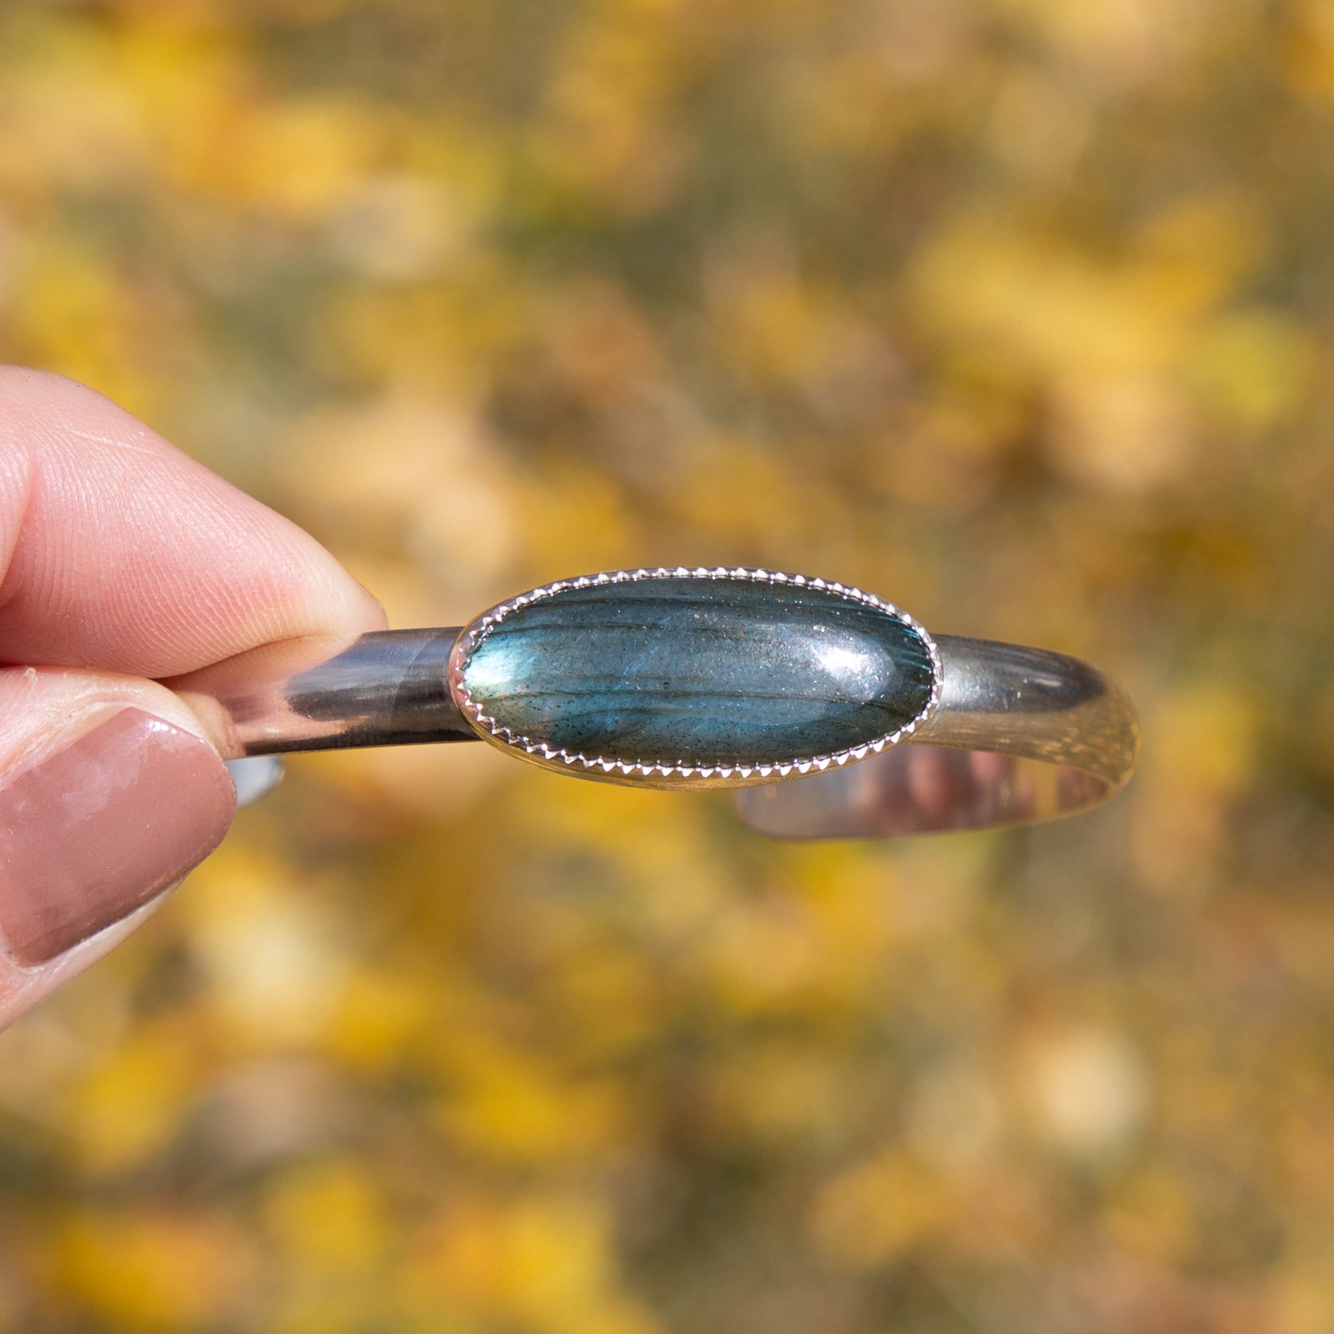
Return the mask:
[(862, 746), (931, 692), (922, 636), (838, 594), (748, 579), (566, 588), (472, 652), (474, 702), (516, 736), (647, 763), (771, 764)]

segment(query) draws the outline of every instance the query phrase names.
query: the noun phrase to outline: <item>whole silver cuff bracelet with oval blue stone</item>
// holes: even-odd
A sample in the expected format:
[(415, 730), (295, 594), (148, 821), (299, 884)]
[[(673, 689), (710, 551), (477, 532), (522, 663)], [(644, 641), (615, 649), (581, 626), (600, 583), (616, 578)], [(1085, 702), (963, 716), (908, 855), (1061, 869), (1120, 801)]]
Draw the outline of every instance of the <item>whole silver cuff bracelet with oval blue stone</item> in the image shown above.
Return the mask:
[(600, 782), (738, 787), (746, 823), (779, 838), (1070, 814), (1117, 792), (1139, 744), (1087, 663), (932, 638), (871, 594), (764, 570), (588, 575), (462, 628), (284, 654), (197, 700), (235, 756), (480, 739)]

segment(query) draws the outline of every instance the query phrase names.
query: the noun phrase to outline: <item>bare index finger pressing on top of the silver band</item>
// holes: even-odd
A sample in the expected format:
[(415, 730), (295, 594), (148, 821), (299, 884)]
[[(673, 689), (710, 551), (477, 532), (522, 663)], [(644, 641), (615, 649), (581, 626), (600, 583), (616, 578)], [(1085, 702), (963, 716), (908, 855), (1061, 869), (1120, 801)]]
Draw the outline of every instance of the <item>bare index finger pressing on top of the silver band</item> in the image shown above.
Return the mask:
[(293, 523), (60, 376), (0, 367), (0, 660), (181, 676), (384, 627)]

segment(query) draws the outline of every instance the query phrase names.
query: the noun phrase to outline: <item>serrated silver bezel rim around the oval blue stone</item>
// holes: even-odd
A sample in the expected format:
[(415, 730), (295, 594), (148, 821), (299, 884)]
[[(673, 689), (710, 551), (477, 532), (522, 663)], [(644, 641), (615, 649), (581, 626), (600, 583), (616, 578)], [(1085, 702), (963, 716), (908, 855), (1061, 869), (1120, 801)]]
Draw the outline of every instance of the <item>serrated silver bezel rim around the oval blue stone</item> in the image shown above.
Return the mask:
[[(667, 762), (644, 760), (627, 755), (586, 755), (558, 750), (546, 742), (522, 736), (508, 727), (500, 726), (494, 718), (487, 715), (468, 692), (464, 679), (467, 666), (478, 646), (499, 626), (507, 616), (522, 607), (528, 607), (535, 602), (542, 602), (567, 588), (594, 588), (606, 584), (638, 583), (646, 579), (728, 579), (747, 580), (751, 583), (767, 583), (775, 586), (790, 586), (795, 588), (812, 588), (820, 592), (830, 592), (847, 602), (862, 603), (875, 607), (894, 619), (902, 622), (926, 646), (931, 660), (931, 690), (926, 704), (920, 712), (896, 731), (887, 732), (862, 746), (847, 750), (832, 751), (822, 755), (799, 755), (783, 763), (747, 763), (731, 758), (712, 764), (698, 762)], [(940, 652), (935, 640), (918, 624), (907, 612), (900, 611), (892, 603), (876, 598), (874, 594), (863, 592), (860, 588), (851, 588), (846, 584), (824, 579), (812, 579), (806, 575), (788, 575), (771, 570), (751, 570), (746, 567), (718, 566), (675, 568), (659, 566), (656, 568), (642, 570), (611, 570), (595, 575), (580, 575), (576, 579), (560, 579), (555, 583), (532, 588), (519, 594), (507, 602), (483, 612), (459, 634), (450, 654), (448, 688), (455, 704), (462, 711), (476, 734), (503, 750), (519, 755), (523, 759), (540, 764), (544, 768), (560, 770), (579, 774), (584, 778), (600, 779), (610, 783), (626, 783), (636, 787), (742, 787), (751, 783), (772, 783), (779, 779), (802, 774), (814, 774), (830, 767), (848, 764), (855, 760), (876, 755), (890, 746), (907, 739), (916, 731), (938, 708), (940, 703), (940, 690), (943, 671), (940, 667)]]

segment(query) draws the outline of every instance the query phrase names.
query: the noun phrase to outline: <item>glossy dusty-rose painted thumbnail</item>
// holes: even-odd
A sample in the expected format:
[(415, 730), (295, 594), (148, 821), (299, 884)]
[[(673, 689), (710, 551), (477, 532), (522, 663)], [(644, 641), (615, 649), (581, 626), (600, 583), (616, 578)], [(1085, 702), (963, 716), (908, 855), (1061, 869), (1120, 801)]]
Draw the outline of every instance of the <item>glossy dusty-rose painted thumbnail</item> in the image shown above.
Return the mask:
[(123, 708), (0, 788), (0, 931), (44, 963), (201, 862), (236, 794), (193, 732)]

